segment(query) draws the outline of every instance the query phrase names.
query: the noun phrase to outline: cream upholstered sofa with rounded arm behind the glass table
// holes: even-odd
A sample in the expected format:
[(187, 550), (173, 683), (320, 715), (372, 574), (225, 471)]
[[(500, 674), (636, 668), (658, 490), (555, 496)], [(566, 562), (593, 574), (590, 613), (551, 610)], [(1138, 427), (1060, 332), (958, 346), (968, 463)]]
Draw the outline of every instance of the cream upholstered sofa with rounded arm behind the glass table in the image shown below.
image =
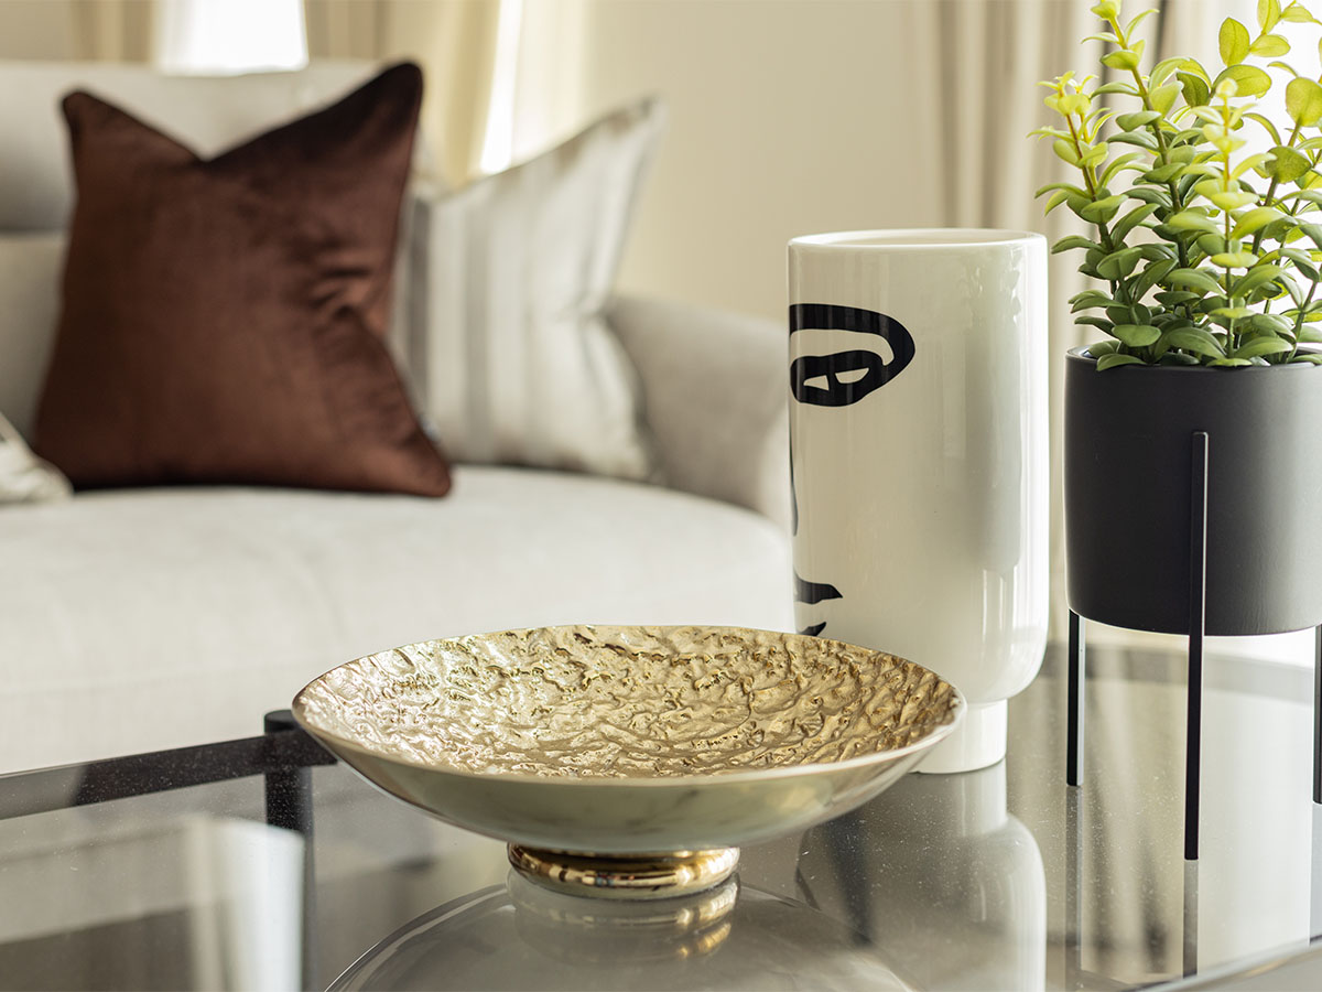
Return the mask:
[[(57, 321), (61, 93), (107, 93), (214, 151), (369, 70), (180, 82), (0, 63), (0, 414), (30, 435)], [(603, 313), (636, 370), (653, 481), (460, 460), (443, 499), (161, 485), (0, 504), (0, 772), (251, 735), (319, 673), (428, 638), (791, 630), (781, 328), (628, 296)]]

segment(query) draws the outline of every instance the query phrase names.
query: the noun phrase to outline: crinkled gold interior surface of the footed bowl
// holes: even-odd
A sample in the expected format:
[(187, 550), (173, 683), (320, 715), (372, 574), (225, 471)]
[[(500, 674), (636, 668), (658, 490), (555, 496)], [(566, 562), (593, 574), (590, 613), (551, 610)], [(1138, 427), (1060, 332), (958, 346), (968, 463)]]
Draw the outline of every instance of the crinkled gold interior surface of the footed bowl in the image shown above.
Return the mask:
[(878, 651), (736, 627), (547, 627), (408, 644), (295, 700), (316, 730), (475, 774), (673, 778), (914, 745), (960, 696)]

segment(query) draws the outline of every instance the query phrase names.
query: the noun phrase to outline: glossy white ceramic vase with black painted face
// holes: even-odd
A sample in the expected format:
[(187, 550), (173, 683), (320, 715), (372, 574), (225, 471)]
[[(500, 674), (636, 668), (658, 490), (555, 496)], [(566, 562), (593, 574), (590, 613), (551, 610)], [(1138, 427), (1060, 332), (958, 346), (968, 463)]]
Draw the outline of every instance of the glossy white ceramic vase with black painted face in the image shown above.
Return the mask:
[(1047, 242), (795, 238), (789, 303), (797, 627), (964, 693), (923, 771), (993, 765), (1047, 639)]

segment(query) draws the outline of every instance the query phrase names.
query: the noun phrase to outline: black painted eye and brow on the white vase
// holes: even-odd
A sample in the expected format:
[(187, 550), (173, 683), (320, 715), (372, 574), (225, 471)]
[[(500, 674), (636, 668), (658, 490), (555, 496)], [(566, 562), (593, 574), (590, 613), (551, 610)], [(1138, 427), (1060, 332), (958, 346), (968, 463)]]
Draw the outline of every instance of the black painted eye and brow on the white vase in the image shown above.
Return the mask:
[[(859, 307), (837, 307), (832, 303), (795, 303), (789, 307), (789, 333), (805, 329), (859, 331), (878, 335), (891, 347), (891, 360), (879, 352), (850, 349), (830, 354), (804, 354), (789, 366), (789, 386), (795, 399), (813, 406), (850, 406), (884, 386), (914, 361), (914, 337), (906, 327)], [(861, 377), (842, 381), (841, 374), (862, 372)], [(825, 378), (825, 386), (809, 385)]]

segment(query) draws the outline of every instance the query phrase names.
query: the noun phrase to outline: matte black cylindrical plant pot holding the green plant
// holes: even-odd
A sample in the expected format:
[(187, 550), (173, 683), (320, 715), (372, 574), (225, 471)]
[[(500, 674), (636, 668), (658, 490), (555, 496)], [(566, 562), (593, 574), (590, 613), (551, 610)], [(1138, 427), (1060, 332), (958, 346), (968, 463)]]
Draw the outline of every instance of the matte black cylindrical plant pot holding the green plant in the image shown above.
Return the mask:
[(1210, 635), (1322, 623), (1322, 368), (1066, 362), (1069, 608), (1188, 634), (1191, 438), (1208, 435)]

